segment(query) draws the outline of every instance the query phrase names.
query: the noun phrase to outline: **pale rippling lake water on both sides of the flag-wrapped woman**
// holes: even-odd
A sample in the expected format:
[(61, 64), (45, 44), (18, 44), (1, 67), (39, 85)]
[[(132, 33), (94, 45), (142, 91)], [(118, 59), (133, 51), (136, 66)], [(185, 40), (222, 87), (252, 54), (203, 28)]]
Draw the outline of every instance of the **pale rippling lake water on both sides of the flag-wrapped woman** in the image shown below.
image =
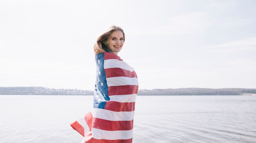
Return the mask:
[[(0, 143), (80, 143), (92, 100), (0, 95)], [(256, 96), (137, 96), (133, 143), (256, 143)]]

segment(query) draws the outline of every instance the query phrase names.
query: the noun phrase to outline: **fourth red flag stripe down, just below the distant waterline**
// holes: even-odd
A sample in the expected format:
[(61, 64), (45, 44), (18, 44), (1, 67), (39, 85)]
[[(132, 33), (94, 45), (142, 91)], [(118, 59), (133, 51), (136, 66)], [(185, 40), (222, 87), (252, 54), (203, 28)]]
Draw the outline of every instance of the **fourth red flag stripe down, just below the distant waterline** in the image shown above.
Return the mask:
[(134, 111), (135, 102), (116, 102), (116, 101), (107, 101), (105, 108), (106, 110), (121, 112), (121, 111)]

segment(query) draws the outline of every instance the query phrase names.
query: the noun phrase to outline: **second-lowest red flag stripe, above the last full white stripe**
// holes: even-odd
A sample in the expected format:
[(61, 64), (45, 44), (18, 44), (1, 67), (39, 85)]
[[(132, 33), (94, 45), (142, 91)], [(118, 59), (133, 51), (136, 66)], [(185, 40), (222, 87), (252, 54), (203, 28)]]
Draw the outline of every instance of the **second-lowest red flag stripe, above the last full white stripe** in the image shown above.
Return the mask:
[(101, 130), (132, 130), (133, 128), (133, 120), (131, 121), (109, 121), (99, 118), (92, 119), (92, 128), (97, 128)]

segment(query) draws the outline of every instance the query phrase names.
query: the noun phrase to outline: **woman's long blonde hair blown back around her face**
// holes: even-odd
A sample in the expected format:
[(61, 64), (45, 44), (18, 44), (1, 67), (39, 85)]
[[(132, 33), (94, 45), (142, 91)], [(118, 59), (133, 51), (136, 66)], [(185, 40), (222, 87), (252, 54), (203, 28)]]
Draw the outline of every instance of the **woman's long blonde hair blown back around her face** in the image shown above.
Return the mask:
[[(101, 36), (97, 39), (97, 42), (94, 44), (94, 54), (99, 54), (99, 53), (103, 53), (106, 52), (106, 45), (104, 44), (104, 42), (107, 41), (108, 37), (112, 34), (112, 32), (115, 31), (121, 31), (123, 33), (124, 36), (124, 31), (121, 27), (119, 26), (110, 26), (106, 32), (104, 32), (103, 34), (101, 34)], [(124, 40), (125, 40), (125, 36), (124, 36)], [(112, 50), (112, 49), (110, 49)], [(115, 53), (117, 54), (117, 53)]]

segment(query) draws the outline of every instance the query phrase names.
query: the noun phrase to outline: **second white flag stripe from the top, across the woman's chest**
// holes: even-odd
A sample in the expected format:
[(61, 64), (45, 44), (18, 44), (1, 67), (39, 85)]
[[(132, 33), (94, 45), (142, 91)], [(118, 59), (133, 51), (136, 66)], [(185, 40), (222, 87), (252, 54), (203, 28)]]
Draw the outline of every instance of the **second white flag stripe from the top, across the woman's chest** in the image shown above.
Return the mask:
[(128, 78), (125, 76), (106, 78), (108, 87), (121, 85), (139, 85), (137, 78)]

